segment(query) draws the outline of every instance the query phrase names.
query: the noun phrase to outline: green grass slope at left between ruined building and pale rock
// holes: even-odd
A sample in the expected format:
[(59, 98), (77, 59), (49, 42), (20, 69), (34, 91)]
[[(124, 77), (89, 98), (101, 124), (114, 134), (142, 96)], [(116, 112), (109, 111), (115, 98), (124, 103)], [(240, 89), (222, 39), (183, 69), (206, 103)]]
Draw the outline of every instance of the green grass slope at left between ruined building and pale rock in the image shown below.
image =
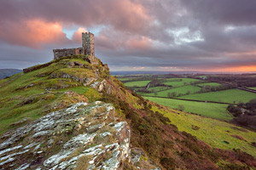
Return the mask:
[[(45, 68), (19, 73), (0, 81), (0, 134), (20, 126), (13, 123), (24, 118), (31, 121), (55, 111), (55, 108), (101, 98), (95, 89), (84, 87), (81, 82), (50, 77), (52, 73), (68, 73), (74, 77), (91, 77), (94, 74), (93, 70), (85, 67), (67, 68), (71, 61), (83, 63), (85, 67), (88, 65), (84, 59), (62, 59)], [(71, 90), (73, 93), (67, 93)]]

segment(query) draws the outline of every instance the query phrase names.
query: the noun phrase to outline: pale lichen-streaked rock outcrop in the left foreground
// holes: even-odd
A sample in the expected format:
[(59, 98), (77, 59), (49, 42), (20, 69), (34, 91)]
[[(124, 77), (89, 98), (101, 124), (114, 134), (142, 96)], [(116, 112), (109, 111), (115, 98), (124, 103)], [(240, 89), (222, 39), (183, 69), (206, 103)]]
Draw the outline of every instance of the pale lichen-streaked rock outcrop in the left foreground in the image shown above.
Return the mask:
[(122, 169), (130, 161), (130, 128), (113, 105), (77, 103), (5, 133), (0, 169)]

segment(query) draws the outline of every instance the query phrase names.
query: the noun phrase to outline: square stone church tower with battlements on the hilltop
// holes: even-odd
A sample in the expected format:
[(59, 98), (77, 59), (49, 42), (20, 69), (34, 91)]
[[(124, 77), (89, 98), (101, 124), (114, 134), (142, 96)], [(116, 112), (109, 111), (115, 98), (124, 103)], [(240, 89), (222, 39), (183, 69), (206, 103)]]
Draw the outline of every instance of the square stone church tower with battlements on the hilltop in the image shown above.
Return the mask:
[(95, 56), (94, 35), (92, 33), (82, 33), (82, 48), (84, 49), (84, 55)]

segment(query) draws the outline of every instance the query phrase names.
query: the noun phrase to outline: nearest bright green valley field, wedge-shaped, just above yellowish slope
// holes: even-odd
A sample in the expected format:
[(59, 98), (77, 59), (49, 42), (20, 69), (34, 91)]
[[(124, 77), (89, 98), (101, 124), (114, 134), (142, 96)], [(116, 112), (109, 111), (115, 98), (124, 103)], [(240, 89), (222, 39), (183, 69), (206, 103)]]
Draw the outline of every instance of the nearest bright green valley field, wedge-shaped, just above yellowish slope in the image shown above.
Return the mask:
[(212, 104), (212, 103), (202, 103), (195, 101), (184, 101), (178, 99), (163, 99), (146, 97), (143, 98), (151, 100), (160, 105), (166, 105), (172, 109), (178, 109), (178, 105), (183, 105), (186, 112), (196, 113), (201, 116), (207, 116), (219, 120), (230, 121), (233, 116), (226, 110), (228, 105), (224, 104)]

